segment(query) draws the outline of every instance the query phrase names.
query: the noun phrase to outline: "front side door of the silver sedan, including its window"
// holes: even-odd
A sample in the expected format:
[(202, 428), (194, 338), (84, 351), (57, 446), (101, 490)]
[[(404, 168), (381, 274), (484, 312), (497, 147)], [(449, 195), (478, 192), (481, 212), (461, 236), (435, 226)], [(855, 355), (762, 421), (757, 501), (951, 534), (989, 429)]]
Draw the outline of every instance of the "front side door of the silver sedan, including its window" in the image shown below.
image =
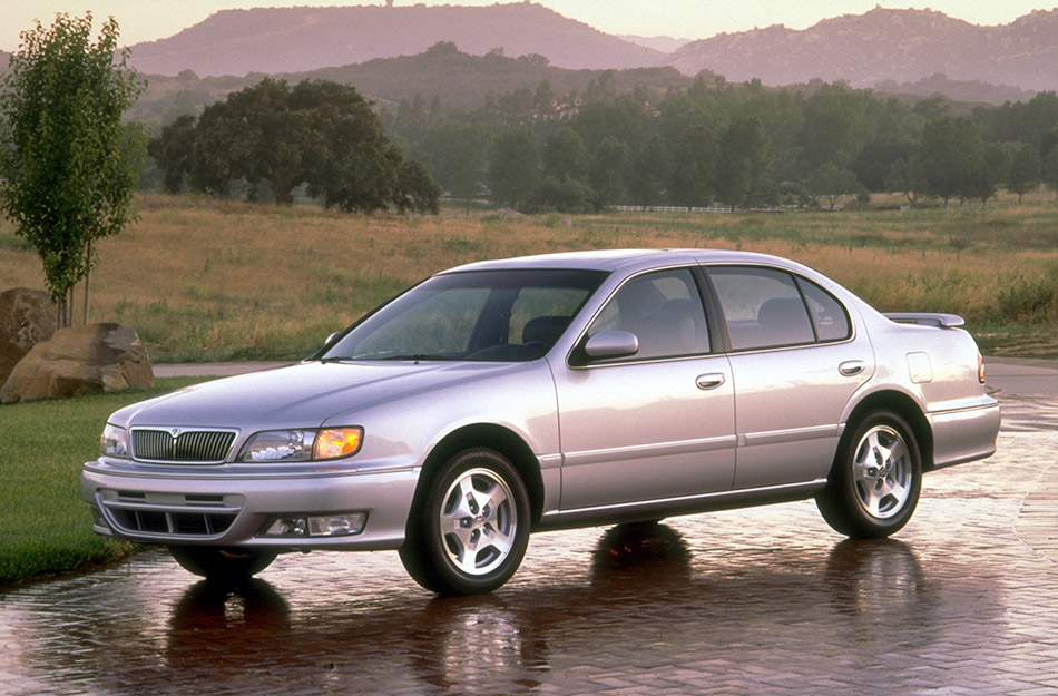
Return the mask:
[(734, 392), (689, 268), (633, 277), (586, 339), (636, 335), (638, 351), (555, 371), (562, 449), (561, 509), (617, 506), (728, 490)]

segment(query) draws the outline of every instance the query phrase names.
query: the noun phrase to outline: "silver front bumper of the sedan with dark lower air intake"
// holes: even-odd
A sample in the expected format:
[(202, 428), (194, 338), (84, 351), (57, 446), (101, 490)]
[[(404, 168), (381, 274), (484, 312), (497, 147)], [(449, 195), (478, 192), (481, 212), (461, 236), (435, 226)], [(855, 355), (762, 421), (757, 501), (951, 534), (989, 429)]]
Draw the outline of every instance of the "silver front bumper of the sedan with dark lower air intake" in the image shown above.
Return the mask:
[[(87, 462), (81, 498), (97, 533), (138, 543), (271, 547), (284, 550), (398, 549), (418, 468), (271, 472)], [(277, 518), (366, 514), (359, 533), (265, 536)]]

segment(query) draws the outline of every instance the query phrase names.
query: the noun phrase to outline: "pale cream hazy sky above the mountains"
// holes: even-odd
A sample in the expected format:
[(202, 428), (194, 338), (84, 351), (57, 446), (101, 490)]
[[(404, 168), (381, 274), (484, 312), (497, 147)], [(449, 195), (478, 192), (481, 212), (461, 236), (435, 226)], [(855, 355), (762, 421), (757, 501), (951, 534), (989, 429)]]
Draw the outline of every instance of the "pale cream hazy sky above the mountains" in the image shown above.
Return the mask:
[[(1033, 9), (1050, 10), (1038, 0), (927, 0), (925, 2), (878, 0), (536, 0), (539, 4), (607, 33), (670, 36), (704, 39), (723, 31), (745, 31), (754, 27), (786, 24), (804, 29), (827, 17), (862, 14), (875, 6), (886, 8), (932, 8), (949, 17), (976, 24), (1006, 24)], [(496, 0), (395, 0), (398, 6), (493, 4)], [(19, 32), (33, 20), (50, 24), (57, 12), (84, 16), (91, 10), (97, 20), (115, 17), (123, 43), (164, 39), (206, 19), (217, 10), (252, 7), (384, 4), (383, 0), (361, 2), (332, 0), (0, 0), (0, 49), (18, 48)]]

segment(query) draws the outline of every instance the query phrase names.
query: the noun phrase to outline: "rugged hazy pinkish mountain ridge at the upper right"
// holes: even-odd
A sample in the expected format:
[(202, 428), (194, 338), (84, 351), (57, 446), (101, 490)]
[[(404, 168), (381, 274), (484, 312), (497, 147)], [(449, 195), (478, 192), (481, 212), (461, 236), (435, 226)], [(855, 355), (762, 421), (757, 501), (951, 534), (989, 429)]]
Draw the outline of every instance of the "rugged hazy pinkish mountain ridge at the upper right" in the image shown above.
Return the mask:
[(673, 53), (682, 72), (712, 70), (729, 81), (765, 85), (812, 79), (873, 87), (952, 80), (1058, 88), (1058, 9), (1037, 10), (999, 27), (979, 27), (931, 10), (875, 8), (826, 19), (804, 30), (781, 24), (694, 41)]

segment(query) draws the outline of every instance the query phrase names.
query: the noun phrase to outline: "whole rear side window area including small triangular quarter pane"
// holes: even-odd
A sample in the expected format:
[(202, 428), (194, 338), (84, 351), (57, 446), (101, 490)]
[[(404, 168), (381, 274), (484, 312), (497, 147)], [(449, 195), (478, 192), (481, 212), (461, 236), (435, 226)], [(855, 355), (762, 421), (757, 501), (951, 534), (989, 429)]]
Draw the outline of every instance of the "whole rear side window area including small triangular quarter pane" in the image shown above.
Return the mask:
[(727, 320), (732, 350), (849, 337), (849, 317), (841, 303), (810, 281), (776, 268), (721, 266), (708, 272)]

